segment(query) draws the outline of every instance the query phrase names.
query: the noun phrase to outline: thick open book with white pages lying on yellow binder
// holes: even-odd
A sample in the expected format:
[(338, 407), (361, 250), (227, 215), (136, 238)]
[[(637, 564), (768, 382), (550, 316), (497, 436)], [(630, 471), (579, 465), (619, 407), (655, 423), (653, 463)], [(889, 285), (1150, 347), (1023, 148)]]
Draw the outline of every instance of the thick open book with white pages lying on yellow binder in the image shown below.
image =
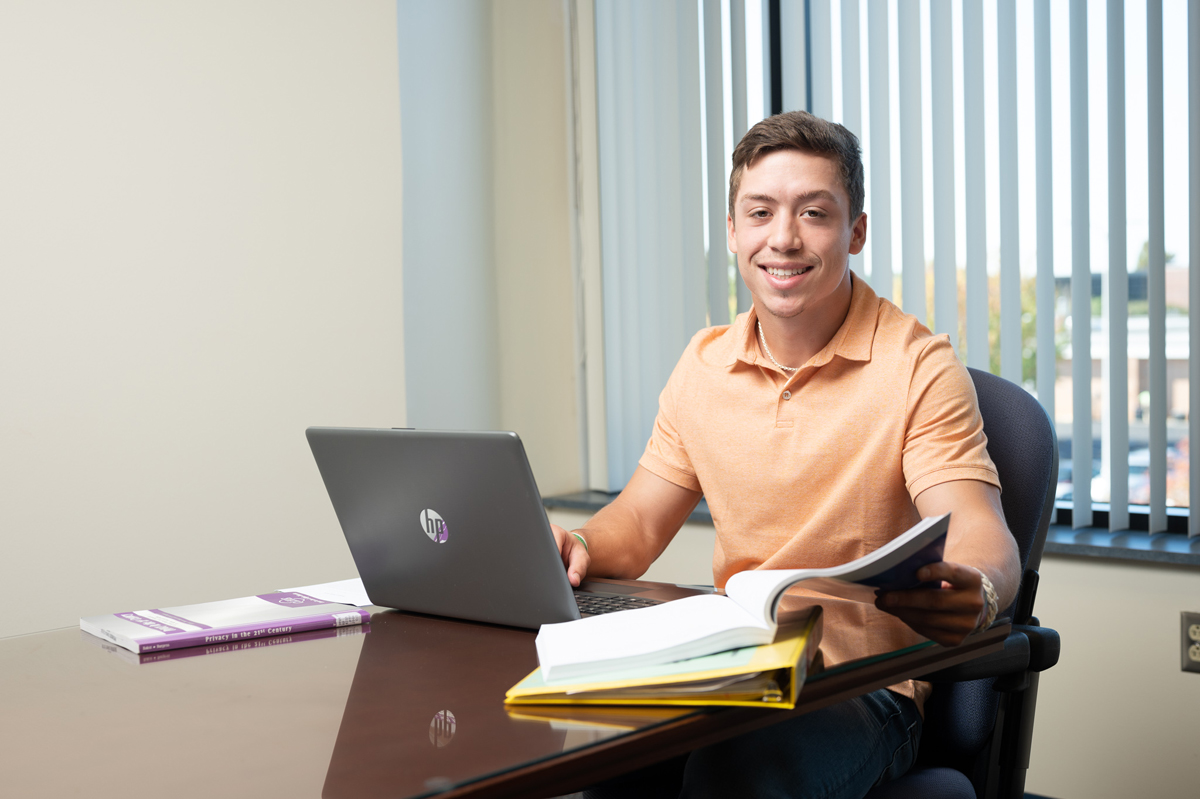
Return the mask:
[(875, 552), (824, 569), (760, 569), (730, 577), (709, 594), (636, 611), (544, 624), (538, 663), (547, 684), (616, 669), (670, 663), (774, 641), (776, 608), (788, 588), (870, 601), (876, 589), (917, 588), (917, 570), (942, 559), (950, 515), (924, 518)]

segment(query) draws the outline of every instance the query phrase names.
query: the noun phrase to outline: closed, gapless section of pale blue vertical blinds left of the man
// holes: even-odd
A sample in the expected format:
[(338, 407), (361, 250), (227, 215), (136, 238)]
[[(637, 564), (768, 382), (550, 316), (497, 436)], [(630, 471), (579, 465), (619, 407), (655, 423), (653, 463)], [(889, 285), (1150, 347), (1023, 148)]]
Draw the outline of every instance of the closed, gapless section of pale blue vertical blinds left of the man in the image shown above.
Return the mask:
[(637, 465), (676, 360), (707, 323), (696, 0), (601, 0), (595, 38), (607, 477), (616, 488)]

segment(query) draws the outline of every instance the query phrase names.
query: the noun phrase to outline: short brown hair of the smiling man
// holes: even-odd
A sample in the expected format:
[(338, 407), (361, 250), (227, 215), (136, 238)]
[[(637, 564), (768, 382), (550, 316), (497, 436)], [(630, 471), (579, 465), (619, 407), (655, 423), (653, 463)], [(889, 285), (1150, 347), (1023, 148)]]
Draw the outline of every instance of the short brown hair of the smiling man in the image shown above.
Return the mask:
[(744, 173), (755, 161), (775, 150), (799, 150), (833, 158), (841, 173), (841, 182), (850, 194), (850, 221), (853, 224), (863, 212), (866, 190), (863, 181), (863, 151), (858, 137), (836, 122), (814, 116), (808, 112), (787, 112), (762, 120), (742, 137), (733, 149), (733, 170), (730, 173), (730, 216), (738, 197)]

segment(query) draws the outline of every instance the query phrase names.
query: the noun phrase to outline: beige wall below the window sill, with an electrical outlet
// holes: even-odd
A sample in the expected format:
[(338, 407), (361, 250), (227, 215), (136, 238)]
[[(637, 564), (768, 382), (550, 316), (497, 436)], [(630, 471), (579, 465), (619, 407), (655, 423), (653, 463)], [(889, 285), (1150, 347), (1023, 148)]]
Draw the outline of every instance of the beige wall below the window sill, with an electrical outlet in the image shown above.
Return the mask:
[(1195, 569), (1046, 555), (1037, 615), (1062, 636), (1042, 675), (1026, 789), (1057, 799), (1195, 795), (1200, 674), (1180, 669)]

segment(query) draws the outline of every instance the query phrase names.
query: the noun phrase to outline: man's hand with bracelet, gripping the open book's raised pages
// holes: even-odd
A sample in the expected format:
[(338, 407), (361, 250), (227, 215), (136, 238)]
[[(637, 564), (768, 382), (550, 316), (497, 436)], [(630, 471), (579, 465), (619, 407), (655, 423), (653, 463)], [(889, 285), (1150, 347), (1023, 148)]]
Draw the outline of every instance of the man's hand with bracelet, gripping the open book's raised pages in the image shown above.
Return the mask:
[(882, 591), (875, 606), (942, 645), (962, 643), (979, 625), (986, 605), (979, 571), (959, 563), (942, 561), (923, 566), (917, 577), (928, 582), (941, 581), (942, 587)]

